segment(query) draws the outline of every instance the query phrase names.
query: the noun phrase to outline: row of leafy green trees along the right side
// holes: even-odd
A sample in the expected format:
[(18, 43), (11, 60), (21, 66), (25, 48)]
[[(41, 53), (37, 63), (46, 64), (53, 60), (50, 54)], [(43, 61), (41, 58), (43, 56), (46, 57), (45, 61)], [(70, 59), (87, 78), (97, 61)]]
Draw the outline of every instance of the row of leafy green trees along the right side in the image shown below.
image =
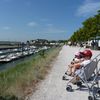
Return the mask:
[(81, 28), (74, 32), (69, 39), (70, 41), (81, 42), (100, 36), (100, 10), (95, 16), (86, 19), (82, 25)]

